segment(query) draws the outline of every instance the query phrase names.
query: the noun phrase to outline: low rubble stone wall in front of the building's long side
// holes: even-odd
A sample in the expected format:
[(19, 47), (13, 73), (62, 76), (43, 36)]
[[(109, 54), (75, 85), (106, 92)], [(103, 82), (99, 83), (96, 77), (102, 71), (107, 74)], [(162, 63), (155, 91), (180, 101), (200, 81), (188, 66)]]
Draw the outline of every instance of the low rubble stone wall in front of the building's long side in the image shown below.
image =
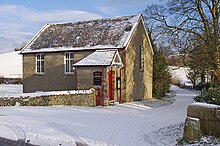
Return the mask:
[(95, 90), (88, 93), (42, 95), (36, 97), (0, 98), (0, 106), (96, 106)]

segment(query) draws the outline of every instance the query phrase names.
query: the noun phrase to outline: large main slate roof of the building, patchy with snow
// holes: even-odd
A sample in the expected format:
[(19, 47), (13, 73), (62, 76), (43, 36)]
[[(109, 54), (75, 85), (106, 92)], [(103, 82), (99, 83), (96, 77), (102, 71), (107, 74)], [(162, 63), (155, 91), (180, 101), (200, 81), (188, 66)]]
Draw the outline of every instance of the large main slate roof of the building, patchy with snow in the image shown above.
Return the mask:
[(141, 15), (47, 24), (21, 53), (123, 48)]

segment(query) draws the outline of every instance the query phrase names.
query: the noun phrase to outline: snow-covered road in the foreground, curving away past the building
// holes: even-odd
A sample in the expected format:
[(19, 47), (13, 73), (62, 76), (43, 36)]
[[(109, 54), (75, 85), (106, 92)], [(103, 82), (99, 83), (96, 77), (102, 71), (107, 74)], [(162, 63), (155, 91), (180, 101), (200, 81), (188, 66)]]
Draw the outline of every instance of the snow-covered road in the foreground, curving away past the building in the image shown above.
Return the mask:
[(134, 103), (109, 107), (0, 107), (0, 137), (37, 145), (173, 145), (196, 92), (172, 86), (175, 102), (158, 108)]

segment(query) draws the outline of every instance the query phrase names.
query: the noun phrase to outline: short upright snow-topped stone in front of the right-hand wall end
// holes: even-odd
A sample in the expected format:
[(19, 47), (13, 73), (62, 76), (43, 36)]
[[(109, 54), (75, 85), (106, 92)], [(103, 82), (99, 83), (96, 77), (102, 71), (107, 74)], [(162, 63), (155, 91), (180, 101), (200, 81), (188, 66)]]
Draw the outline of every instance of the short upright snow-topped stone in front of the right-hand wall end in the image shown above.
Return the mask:
[(189, 143), (192, 143), (198, 140), (200, 136), (200, 120), (198, 118), (187, 117), (184, 126), (183, 138)]

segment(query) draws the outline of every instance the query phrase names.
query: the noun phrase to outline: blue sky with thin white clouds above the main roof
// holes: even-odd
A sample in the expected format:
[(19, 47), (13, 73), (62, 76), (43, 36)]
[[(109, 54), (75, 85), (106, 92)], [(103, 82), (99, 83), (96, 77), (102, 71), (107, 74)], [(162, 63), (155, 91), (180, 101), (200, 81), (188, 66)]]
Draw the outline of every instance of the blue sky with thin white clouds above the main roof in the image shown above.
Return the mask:
[(28, 41), (46, 23), (133, 15), (158, 1), (0, 0), (0, 53)]

